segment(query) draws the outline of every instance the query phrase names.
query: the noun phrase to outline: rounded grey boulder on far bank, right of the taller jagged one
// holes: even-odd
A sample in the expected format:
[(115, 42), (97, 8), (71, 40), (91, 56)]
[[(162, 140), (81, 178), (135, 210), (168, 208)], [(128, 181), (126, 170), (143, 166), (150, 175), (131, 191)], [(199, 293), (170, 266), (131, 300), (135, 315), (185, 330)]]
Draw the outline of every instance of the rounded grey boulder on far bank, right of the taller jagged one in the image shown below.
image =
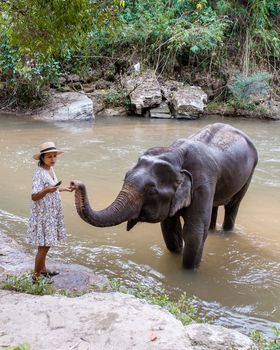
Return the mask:
[(207, 95), (199, 86), (184, 86), (174, 91), (171, 98), (173, 113), (177, 119), (196, 119), (206, 107)]

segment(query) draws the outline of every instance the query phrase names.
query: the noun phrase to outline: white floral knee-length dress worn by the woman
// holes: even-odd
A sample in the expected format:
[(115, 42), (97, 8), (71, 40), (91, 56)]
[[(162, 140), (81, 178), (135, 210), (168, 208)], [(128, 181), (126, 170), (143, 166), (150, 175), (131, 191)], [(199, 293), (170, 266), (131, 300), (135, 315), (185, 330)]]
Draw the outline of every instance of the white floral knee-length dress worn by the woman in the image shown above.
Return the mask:
[[(57, 183), (49, 172), (38, 166), (32, 178), (32, 194), (42, 191), (45, 187)], [(27, 229), (27, 242), (36, 246), (56, 246), (60, 240), (66, 239), (64, 216), (59, 191), (47, 193), (42, 199), (32, 201)]]

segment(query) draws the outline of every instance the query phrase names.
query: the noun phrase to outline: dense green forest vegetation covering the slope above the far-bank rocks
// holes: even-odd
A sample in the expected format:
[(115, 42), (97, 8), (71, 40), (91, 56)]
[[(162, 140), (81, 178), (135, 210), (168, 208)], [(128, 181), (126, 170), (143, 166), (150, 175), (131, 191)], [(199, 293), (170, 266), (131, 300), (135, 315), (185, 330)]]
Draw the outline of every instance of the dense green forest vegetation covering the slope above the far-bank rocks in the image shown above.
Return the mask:
[[(118, 86), (138, 62), (159, 78), (211, 85), (213, 101), (250, 108), (252, 90), (277, 99), (280, 2), (0, 0), (5, 108), (44, 103), (69, 74)], [(114, 91), (121, 103), (121, 86)]]

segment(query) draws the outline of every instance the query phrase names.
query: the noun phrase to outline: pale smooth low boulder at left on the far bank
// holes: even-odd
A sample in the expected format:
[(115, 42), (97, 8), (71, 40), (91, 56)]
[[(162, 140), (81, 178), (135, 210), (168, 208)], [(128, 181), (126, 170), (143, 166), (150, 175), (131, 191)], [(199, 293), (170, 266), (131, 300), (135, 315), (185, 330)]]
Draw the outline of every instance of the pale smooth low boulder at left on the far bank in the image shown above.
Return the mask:
[(54, 93), (44, 107), (33, 111), (32, 117), (47, 121), (94, 119), (93, 103), (84, 93)]

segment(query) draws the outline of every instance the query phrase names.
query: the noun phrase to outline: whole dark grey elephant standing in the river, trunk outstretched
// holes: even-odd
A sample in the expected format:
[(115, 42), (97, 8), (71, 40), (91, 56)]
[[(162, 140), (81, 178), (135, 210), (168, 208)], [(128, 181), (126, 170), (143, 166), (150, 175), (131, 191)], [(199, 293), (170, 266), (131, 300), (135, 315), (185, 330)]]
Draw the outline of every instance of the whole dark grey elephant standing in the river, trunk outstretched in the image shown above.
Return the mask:
[(169, 147), (148, 149), (126, 173), (122, 190), (104, 210), (90, 207), (83, 183), (75, 180), (71, 185), (84, 221), (99, 227), (127, 221), (127, 230), (140, 221), (160, 222), (167, 248), (183, 252), (185, 268), (196, 268), (208, 230), (216, 226), (219, 206), (225, 208), (223, 229), (233, 229), (257, 161), (247, 135), (216, 123)]

